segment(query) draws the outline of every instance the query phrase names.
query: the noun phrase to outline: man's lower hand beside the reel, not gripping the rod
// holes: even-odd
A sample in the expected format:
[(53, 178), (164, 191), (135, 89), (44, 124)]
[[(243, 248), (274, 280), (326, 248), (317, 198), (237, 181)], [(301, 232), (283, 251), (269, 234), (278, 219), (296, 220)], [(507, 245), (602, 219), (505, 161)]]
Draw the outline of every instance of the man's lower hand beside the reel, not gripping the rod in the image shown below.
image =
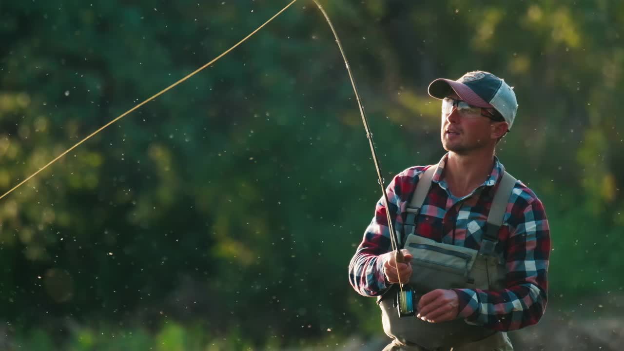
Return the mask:
[(459, 297), (453, 290), (436, 289), (422, 295), (416, 317), (431, 323), (454, 320), (459, 314)]

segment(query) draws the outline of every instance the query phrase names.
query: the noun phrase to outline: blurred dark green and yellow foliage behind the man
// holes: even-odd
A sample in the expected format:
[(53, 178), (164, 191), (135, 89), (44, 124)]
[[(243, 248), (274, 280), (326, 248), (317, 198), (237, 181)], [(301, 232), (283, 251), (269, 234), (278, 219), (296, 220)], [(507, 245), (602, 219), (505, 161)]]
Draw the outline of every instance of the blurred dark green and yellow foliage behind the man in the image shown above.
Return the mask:
[[(285, 5), (1, 2), (0, 189)], [(499, 157), (550, 219), (550, 304), (622, 294), (624, 2), (324, 6), (386, 181), (443, 154), (427, 84), (492, 71), (520, 104)], [(344, 63), (302, 0), (0, 200), (7, 348), (277, 349), (379, 335), (373, 300), (346, 276), (379, 195)]]

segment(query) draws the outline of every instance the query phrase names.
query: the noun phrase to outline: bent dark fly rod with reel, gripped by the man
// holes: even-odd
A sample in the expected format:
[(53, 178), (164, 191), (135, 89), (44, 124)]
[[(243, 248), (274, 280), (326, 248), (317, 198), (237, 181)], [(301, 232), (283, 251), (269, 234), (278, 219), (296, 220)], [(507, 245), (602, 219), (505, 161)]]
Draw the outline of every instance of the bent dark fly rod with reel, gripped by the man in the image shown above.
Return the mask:
[(356, 100), (358, 101), (359, 114), (362, 117), (362, 122), (364, 124), (364, 130), (366, 131), (366, 138), (368, 139), (368, 144), (371, 147), (371, 154), (373, 154), (373, 162), (375, 164), (375, 170), (377, 171), (378, 183), (381, 186), (381, 192), (383, 194), (385, 207), (386, 207), (386, 219), (388, 219), (388, 230), (390, 236), (390, 243), (392, 245), (392, 251), (394, 254), (394, 265), (397, 270), (397, 277), (399, 277), (399, 292), (398, 292), (398, 303), (397, 309), (399, 311), (399, 316), (410, 316), (414, 315), (414, 305), (413, 305), (413, 296), (414, 292), (411, 289), (403, 289), (403, 284), (401, 282), (401, 275), (399, 275), (399, 265), (398, 262), (403, 262), (404, 257), (399, 250), (399, 234), (394, 231), (394, 225), (392, 225), (392, 218), (390, 216), (390, 210), (388, 208), (388, 193), (386, 192), (386, 185), (384, 184), (384, 177), (381, 173), (381, 166), (379, 166), (379, 159), (377, 158), (377, 152), (375, 151), (375, 145), (373, 142), (373, 133), (371, 133), (371, 128), (368, 125), (368, 119), (366, 119), (366, 114), (364, 113), (364, 106), (362, 106), (362, 100), (359, 98), (358, 87), (355, 84), (355, 79), (353, 77), (353, 72), (351, 72), (351, 67), (349, 66), (349, 61), (347, 60), (346, 54), (344, 54), (343, 45), (340, 42), (338, 37), (338, 33), (336, 29), (334, 29), (331, 20), (327, 12), (323, 9), (323, 6), (319, 4), (317, 0), (313, 0), (314, 4), (318, 7), (318, 9), (323, 13), (325, 20), (329, 24), (329, 28), (331, 28), (331, 32), (334, 34), (334, 38), (336, 38), (336, 44), (338, 44), (338, 49), (340, 49), (340, 54), (343, 56), (344, 66), (347, 68), (347, 72), (349, 72), (349, 79), (351, 79), (351, 86), (353, 87), (353, 92), (355, 93)]

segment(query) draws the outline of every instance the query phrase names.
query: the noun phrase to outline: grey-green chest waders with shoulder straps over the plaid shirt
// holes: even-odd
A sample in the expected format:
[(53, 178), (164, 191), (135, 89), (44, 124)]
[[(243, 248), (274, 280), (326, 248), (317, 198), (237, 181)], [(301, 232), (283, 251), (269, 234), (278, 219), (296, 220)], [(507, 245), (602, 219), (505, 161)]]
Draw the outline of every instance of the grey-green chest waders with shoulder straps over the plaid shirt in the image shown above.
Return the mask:
[[(411, 298), (411, 301), (400, 302), (401, 294), (396, 284), (378, 298), (384, 332), (395, 339), (394, 344), (400, 345), (401, 350), (448, 350), (451, 347), (463, 350), (461, 346), (470, 343), (478, 346), (474, 350), (495, 350), (505, 347), (509, 345), (505, 333), (468, 324), (461, 318), (429, 323), (414, 317), (422, 295), (435, 289), (504, 288), (505, 265), (494, 249), (498, 242), (498, 232), (505, 209), (514, 189), (515, 178), (507, 172), (503, 175), (487, 217), (480, 250), (477, 251), (436, 242), (415, 234), (416, 217), (431, 188), (431, 179), (435, 172), (436, 167), (429, 167), (424, 172), (406, 210), (404, 230), (407, 237), (403, 247), (409, 250), (414, 258), (411, 262), (412, 276), (402, 289), (407, 291), (407, 294), (402, 295)], [(413, 309), (405, 310), (410, 305)]]

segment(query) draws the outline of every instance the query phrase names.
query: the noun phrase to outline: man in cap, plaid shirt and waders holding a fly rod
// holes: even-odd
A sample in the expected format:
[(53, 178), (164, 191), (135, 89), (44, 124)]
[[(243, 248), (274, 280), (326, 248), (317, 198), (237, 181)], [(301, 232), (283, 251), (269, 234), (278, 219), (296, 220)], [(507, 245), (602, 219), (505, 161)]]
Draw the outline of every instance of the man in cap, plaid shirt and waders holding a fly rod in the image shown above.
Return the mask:
[[(387, 188), (388, 209), (399, 247), (406, 242), (409, 247), (401, 250), (402, 261), (395, 260), (382, 198), (349, 264), (349, 281), (361, 295), (384, 296), (379, 300), (384, 330), (394, 339), (384, 350), (513, 350), (505, 332), (535, 324), (544, 313), (550, 253), (544, 207), (532, 190), (509, 175), (512, 180), (507, 181), (508, 190), (501, 190), (507, 192), (499, 196), (504, 200), (493, 204), (505, 174), (495, 147), (514, 123), (515, 94), (499, 77), (477, 71), (457, 81), (436, 79), (429, 86), (429, 95), (442, 100), (441, 139), (447, 154), (437, 166), (416, 166), (397, 174)], [(423, 180), (422, 186), (429, 190), (425, 190), (422, 203), (416, 205), (419, 210), (409, 224), (407, 209), (428, 169), (430, 180), (427, 184)], [(494, 207), (500, 208), (502, 220), (494, 230), (486, 230)], [(413, 234), (408, 235), (407, 228)], [(427, 244), (412, 244), (410, 237), (427, 240)], [(421, 256), (454, 249), (473, 253), (466, 255), (466, 267), (470, 265), (466, 278), (462, 277), (466, 284), (429, 287), (427, 284), (438, 284), (434, 283), (438, 277), (449, 276), (447, 264), (442, 261), (434, 265), (442, 269), (434, 268), (426, 275), (429, 278), (419, 278), (432, 267), (430, 259)], [(465, 254), (451, 255), (455, 259)], [(486, 262), (480, 266), (485, 270), (475, 268), (479, 260)], [(492, 262), (494, 266), (489, 265)], [(501, 269), (498, 285), (492, 279), (496, 269), (491, 267)], [(474, 278), (479, 280), (480, 275), (487, 278), (477, 287)], [(412, 317), (399, 318), (388, 310), (400, 300), (392, 291), (392, 287), (399, 290), (399, 282), (409, 282), (403, 289), (410, 289), (410, 285), (424, 287), (419, 288), (423, 291), (414, 289), (417, 298)], [(408, 324), (395, 332), (392, 324), (399, 323)], [(467, 334), (464, 339), (457, 336), (462, 332)]]

